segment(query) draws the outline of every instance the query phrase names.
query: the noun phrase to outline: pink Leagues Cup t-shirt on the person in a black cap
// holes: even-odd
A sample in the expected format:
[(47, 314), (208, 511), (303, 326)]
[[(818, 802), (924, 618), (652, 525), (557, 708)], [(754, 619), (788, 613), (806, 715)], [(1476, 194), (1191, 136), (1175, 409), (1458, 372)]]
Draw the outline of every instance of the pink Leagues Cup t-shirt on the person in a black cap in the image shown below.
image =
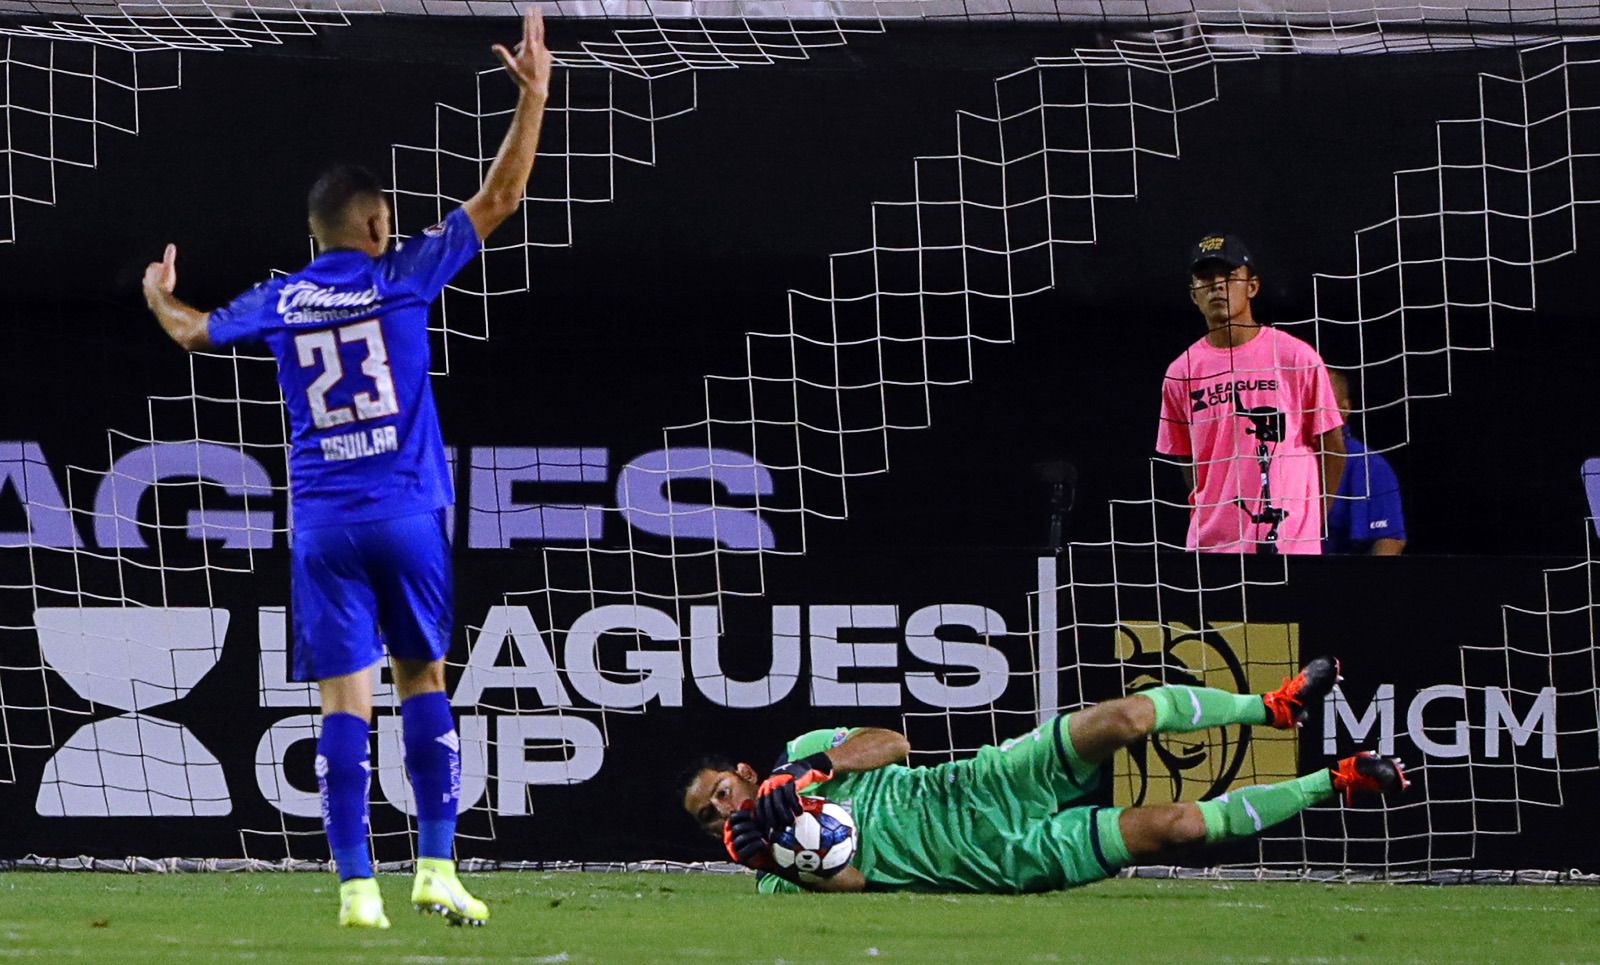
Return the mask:
[(1256, 552), (1272, 530), (1251, 515), (1264, 509), (1254, 429), (1277, 421), (1274, 411), (1283, 427), (1282, 440), (1267, 443), (1270, 506), (1288, 511), (1278, 523), (1278, 552), (1322, 552), (1322, 467), (1314, 446), (1344, 418), (1322, 357), (1277, 328), (1261, 328), (1234, 349), (1202, 338), (1166, 368), (1155, 451), (1194, 459), (1189, 549)]

